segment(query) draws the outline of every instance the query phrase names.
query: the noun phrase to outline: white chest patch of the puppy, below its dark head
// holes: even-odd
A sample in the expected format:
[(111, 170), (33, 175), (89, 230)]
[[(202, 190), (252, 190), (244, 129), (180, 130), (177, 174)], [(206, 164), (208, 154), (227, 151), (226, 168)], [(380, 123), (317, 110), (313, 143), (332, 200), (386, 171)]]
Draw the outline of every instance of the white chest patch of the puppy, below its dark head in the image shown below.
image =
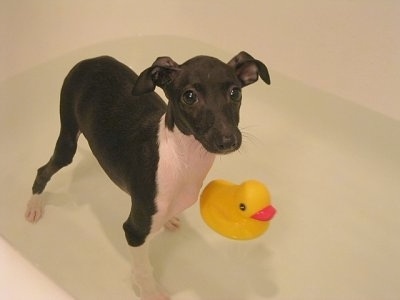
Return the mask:
[(203, 180), (215, 158), (215, 154), (207, 152), (193, 136), (184, 135), (176, 127), (169, 131), (164, 117), (158, 134), (160, 160), (155, 227), (162, 226), (197, 201)]

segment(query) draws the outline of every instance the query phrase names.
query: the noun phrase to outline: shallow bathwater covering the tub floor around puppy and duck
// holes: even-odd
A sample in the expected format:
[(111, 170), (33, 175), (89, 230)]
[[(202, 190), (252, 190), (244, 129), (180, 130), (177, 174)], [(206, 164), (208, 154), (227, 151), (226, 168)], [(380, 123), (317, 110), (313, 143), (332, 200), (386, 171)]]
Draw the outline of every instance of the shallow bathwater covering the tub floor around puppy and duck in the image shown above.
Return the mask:
[[(102, 54), (137, 72), (162, 55), (181, 63), (236, 54), (180, 38), (160, 50), (162, 39), (95, 45), (0, 83), (0, 234), (75, 299), (135, 299), (122, 231), (130, 203), (81, 139), (73, 164), (46, 189), (44, 218), (24, 220), (36, 169), (58, 135), (62, 80)], [(206, 179), (266, 183), (278, 209), (270, 229), (252, 241), (225, 239), (196, 204), (179, 232), (153, 242), (157, 277), (172, 299), (398, 299), (400, 122), (273, 70), (271, 78), (270, 87), (245, 89), (244, 145)]]

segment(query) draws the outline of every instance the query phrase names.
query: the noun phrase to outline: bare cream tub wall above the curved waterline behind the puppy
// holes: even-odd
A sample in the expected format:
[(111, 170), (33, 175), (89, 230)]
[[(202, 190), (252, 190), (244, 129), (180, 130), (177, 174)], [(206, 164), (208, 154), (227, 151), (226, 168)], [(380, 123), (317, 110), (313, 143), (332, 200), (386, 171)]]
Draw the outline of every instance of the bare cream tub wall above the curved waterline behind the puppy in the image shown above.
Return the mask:
[[(400, 119), (400, 2), (2, 1), (0, 80), (88, 45), (178, 35)], [(160, 55), (163, 53), (160, 47)]]

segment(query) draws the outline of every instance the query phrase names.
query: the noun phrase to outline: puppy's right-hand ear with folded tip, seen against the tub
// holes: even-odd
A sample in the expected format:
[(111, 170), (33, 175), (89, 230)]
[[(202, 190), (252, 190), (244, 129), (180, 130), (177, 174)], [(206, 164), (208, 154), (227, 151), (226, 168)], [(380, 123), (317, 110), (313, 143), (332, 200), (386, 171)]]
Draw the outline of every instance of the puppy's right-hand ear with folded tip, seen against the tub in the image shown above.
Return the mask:
[(261, 61), (254, 59), (244, 51), (232, 58), (228, 62), (228, 65), (235, 69), (237, 77), (242, 82), (242, 86), (256, 82), (258, 76), (266, 84), (271, 84), (267, 67)]

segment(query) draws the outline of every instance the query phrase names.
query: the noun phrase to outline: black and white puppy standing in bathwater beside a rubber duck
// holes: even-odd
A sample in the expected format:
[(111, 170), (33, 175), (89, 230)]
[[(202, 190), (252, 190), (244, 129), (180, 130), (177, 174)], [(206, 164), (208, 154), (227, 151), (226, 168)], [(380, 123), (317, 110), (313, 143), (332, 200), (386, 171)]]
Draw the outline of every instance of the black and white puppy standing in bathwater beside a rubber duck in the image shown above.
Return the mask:
[(149, 240), (163, 227), (179, 227), (176, 216), (198, 199), (215, 156), (239, 149), (242, 88), (259, 77), (270, 84), (264, 63), (244, 51), (228, 63), (196, 56), (178, 65), (159, 57), (139, 76), (109, 56), (81, 61), (64, 80), (60, 134), (37, 171), (26, 219), (42, 217), (41, 193), (72, 162), (82, 133), (106, 174), (131, 197), (123, 229), (141, 299), (169, 299), (154, 279)]

